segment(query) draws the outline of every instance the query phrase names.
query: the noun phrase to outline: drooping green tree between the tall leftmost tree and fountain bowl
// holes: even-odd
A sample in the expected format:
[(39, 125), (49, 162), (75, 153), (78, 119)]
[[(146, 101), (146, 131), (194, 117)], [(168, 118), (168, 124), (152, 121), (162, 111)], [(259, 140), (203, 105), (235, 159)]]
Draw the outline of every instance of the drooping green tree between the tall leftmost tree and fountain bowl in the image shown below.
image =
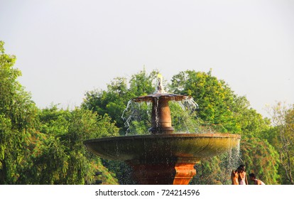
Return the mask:
[(117, 183), (114, 174), (109, 173), (99, 157), (90, 154), (83, 144), (87, 139), (118, 135), (119, 129), (107, 114), (101, 117), (85, 109), (70, 111), (53, 106), (41, 110), (39, 117), (31, 164), (23, 171), (21, 183), (92, 183), (97, 169), (103, 171), (103, 183)]

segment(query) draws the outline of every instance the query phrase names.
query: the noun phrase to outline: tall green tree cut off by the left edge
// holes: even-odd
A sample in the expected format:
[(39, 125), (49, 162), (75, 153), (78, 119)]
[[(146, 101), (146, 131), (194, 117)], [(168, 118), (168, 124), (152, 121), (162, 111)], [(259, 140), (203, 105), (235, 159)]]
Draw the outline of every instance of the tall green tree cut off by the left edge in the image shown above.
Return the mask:
[(0, 184), (18, 181), (26, 165), (27, 147), (38, 121), (37, 108), (17, 78), (15, 55), (7, 55), (0, 41)]

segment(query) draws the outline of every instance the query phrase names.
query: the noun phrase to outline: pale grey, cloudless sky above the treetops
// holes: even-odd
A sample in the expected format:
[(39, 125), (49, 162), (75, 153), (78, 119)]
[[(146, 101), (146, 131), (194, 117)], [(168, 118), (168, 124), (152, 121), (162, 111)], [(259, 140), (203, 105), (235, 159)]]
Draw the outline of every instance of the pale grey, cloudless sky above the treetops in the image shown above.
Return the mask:
[(80, 106), (143, 66), (168, 81), (212, 68), (263, 116), (294, 103), (290, 0), (0, 0), (0, 40), (40, 108)]

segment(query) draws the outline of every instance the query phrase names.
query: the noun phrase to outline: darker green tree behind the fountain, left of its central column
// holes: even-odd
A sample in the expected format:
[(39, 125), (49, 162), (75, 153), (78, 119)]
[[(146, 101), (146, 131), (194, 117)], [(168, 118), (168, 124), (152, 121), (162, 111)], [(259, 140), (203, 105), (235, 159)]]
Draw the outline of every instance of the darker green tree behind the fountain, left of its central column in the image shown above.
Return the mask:
[[(94, 90), (86, 93), (82, 107), (92, 110), (98, 114), (109, 114), (113, 122), (116, 122), (117, 127), (120, 128), (120, 134), (126, 134), (128, 127), (121, 116), (126, 109), (126, 106), (130, 99), (141, 95), (151, 94), (155, 91), (153, 80), (156, 77), (156, 71), (147, 74), (145, 70), (141, 70), (138, 74), (132, 75), (129, 82), (125, 77), (116, 77), (111, 84), (107, 85), (107, 91)], [(139, 112), (146, 112), (148, 106), (142, 105)], [(134, 122), (134, 126), (131, 128), (138, 129), (138, 131), (145, 131), (148, 127), (148, 116), (146, 114), (141, 118), (141, 122)], [(125, 117), (126, 114), (124, 114)], [(129, 129), (130, 130), (130, 129)], [(145, 131), (145, 134), (148, 131)]]

